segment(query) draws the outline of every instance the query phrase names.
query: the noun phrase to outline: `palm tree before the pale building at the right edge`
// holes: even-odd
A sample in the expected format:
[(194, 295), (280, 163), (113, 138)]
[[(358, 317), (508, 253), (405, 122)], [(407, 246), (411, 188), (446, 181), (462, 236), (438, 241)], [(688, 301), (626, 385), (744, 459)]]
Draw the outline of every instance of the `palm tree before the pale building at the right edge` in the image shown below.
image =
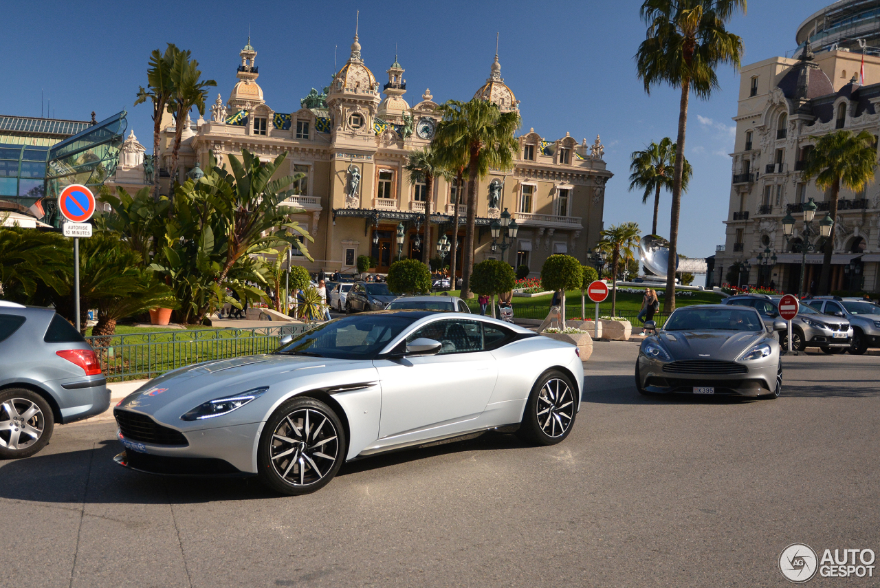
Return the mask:
[[(815, 138), (815, 137), (810, 137)], [(828, 216), (837, 222), (837, 198), (840, 186), (860, 192), (874, 179), (876, 166), (876, 146), (874, 136), (867, 130), (854, 135), (848, 130), (839, 130), (816, 138), (816, 145), (807, 156), (803, 168), (803, 180), (816, 179), (816, 186), (831, 189)], [(834, 239), (825, 240), (825, 259), (822, 260), (822, 273), (819, 275), (820, 294), (831, 291), (831, 255)], [(803, 276), (801, 276), (803, 280)]]

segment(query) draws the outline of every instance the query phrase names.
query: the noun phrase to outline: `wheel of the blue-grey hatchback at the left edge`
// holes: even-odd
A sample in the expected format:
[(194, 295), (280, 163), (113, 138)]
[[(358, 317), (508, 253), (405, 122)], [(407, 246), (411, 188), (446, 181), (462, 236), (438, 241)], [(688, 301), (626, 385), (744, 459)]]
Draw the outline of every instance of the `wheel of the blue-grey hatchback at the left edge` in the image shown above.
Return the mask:
[(40, 394), (26, 388), (0, 392), (0, 458), (32, 456), (48, 444), (54, 429), (52, 408)]

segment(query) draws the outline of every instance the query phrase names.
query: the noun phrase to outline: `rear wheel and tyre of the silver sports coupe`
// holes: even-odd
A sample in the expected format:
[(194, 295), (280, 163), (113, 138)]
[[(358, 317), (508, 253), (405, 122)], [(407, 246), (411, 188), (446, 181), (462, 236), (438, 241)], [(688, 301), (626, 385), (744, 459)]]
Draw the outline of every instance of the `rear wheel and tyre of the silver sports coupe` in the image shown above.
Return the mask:
[(566, 374), (547, 371), (532, 386), (517, 435), (537, 445), (560, 443), (575, 424), (576, 393)]

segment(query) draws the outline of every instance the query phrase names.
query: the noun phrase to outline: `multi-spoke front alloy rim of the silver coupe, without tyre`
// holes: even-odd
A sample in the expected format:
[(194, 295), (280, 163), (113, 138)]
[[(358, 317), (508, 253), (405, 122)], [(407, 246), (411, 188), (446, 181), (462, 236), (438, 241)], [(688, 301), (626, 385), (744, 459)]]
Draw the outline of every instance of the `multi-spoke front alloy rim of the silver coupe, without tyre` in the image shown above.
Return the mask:
[(316, 408), (297, 408), (275, 427), (269, 445), (275, 473), (292, 486), (311, 486), (340, 459), (339, 432)]

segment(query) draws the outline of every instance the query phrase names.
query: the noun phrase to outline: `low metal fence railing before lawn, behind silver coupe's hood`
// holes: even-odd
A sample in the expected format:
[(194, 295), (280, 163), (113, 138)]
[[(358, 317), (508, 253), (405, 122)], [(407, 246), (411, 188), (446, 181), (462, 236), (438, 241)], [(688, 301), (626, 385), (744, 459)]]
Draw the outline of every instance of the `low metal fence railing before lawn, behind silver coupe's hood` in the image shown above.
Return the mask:
[(165, 371), (215, 359), (252, 356), (278, 348), (286, 334), (299, 334), (311, 327), (217, 328), (116, 334), (86, 337), (101, 363), (106, 379), (152, 378)]

